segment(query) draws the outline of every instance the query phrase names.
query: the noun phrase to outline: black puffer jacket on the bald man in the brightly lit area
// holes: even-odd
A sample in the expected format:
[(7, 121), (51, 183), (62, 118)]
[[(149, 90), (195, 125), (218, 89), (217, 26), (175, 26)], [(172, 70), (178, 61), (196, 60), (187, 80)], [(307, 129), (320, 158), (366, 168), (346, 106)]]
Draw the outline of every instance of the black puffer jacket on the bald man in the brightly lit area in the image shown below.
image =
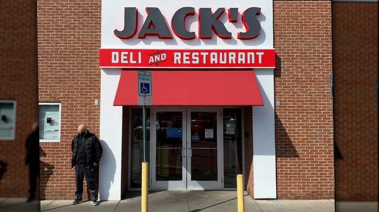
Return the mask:
[[(76, 163), (76, 156), (78, 152), (78, 141), (79, 141), (79, 134), (76, 135), (72, 141), (71, 141), (71, 151), (72, 151), (72, 157), (71, 157), (71, 168), (75, 166)], [(87, 155), (87, 163), (88, 165), (92, 165), (93, 162), (99, 164), (100, 159), (103, 155), (103, 147), (97, 138), (97, 136), (93, 133), (90, 133), (87, 130), (87, 134), (84, 138), (85, 144), (86, 144), (86, 155)]]

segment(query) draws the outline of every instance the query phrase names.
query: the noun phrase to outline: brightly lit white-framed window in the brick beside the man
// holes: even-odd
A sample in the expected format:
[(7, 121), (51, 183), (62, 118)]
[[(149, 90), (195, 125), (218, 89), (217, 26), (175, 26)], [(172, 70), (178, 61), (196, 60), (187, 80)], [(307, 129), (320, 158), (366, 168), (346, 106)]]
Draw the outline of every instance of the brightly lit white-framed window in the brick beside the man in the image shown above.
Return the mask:
[(59, 142), (61, 134), (61, 103), (39, 103), (40, 142)]

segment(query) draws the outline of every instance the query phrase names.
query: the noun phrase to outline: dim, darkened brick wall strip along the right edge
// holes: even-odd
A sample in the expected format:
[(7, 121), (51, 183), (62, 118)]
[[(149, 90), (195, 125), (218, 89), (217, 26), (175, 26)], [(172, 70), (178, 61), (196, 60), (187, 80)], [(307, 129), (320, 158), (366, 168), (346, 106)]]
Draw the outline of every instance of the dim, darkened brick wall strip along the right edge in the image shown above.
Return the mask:
[(378, 200), (378, 2), (333, 2), (336, 200)]

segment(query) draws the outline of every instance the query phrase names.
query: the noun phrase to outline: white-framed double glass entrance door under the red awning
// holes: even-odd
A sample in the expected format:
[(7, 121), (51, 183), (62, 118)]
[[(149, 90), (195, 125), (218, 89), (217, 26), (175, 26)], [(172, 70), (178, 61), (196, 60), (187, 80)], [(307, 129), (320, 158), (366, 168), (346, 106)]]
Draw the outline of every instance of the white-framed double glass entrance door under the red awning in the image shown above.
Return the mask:
[(152, 189), (222, 189), (221, 109), (152, 110)]

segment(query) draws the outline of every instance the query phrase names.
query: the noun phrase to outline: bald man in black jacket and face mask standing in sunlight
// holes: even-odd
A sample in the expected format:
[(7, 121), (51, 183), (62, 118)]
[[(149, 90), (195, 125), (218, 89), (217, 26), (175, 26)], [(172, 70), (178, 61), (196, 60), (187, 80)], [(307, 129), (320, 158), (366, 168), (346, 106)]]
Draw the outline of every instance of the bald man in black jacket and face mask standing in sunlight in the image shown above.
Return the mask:
[(99, 139), (93, 133), (87, 130), (85, 124), (80, 124), (78, 127), (78, 135), (74, 136), (71, 142), (71, 168), (75, 167), (75, 201), (73, 205), (83, 202), (83, 180), (86, 178), (88, 190), (90, 192), (91, 202), (93, 205), (99, 205), (97, 201), (95, 167), (103, 154), (103, 148)]

